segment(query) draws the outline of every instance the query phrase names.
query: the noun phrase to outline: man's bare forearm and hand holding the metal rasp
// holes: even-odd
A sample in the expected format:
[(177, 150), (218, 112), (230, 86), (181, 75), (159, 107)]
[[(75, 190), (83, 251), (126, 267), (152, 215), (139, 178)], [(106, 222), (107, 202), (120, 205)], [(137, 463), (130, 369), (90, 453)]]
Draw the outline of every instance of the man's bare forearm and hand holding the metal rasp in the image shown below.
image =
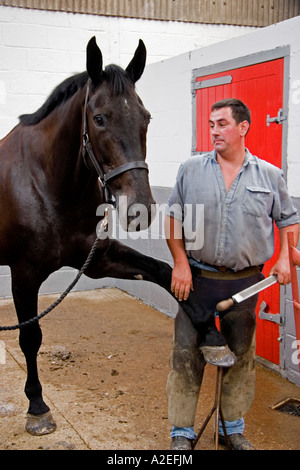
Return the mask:
[(289, 284), (291, 282), (290, 262), (289, 262), (289, 247), (287, 232), (294, 233), (295, 245), (299, 240), (299, 224), (288, 225), (279, 229), (280, 237), (280, 252), (277, 262), (270, 270), (271, 274), (277, 274), (279, 284)]

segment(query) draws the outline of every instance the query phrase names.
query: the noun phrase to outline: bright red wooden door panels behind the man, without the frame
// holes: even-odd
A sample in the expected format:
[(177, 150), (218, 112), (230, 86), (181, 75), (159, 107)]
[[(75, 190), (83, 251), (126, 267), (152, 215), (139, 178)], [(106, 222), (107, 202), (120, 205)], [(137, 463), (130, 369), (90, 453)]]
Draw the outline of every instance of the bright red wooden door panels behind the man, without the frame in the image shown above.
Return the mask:
[[(281, 168), (282, 125), (272, 118), (283, 109), (283, 68), (284, 59), (276, 59), (248, 67), (237, 68), (223, 73), (196, 78), (196, 151), (212, 150), (209, 137), (208, 119), (210, 108), (224, 98), (238, 98), (251, 110), (251, 129), (246, 137), (250, 152)], [(271, 118), (267, 119), (267, 116)], [(266, 263), (267, 276), (279, 253), (279, 236), (276, 228), (275, 252)], [(259, 296), (257, 304), (257, 350), (258, 356), (279, 364), (279, 326), (259, 318), (262, 302), (265, 312), (277, 314), (280, 311), (279, 286), (266, 289)]]

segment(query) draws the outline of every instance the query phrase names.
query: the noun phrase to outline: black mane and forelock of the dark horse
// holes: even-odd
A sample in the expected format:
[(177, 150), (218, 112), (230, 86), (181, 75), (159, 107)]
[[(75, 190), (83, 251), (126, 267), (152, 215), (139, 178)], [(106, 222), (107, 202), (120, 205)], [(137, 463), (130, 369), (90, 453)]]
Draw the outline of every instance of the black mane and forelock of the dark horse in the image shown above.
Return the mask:
[[(23, 114), (19, 117), (21, 124), (24, 126), (33, 126), (38, 124), (42, 119), (49, 116), (49, 114), (59, 105), (65, 103), (69, 98), (84, 87), (88, 81), (88, 73), (82, 72), (64, 80), (58, 85), (47, 98), (45, 103), (32, 114)], [(130, 80), (126, 71), (117, 65), (108, 65), (102, 72), (102, 81), (106, 81), (111, 92), (115, 95), (123, 93), (133, 82)]]

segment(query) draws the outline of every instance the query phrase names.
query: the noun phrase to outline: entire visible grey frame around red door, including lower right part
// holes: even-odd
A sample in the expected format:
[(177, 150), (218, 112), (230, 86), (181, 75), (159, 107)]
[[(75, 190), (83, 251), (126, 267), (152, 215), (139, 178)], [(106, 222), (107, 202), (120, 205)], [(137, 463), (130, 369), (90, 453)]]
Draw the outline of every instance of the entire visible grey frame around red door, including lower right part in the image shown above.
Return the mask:
[[(287, 181), (287, 138), (288, 138), (288, 118), (289, 118), (289, 90), (290, 90), (290, 53), (291, 48), (289, 45), (277, 47), (246, 56), (240, 56), (235, 59), (226, 60), (213, 65), (207, 65), (204, 67), (195, 68), (192, 70), (191, 78), (191, 92), (192, 92), (192, 155), (199, 155), (202, 152), (198, 152), (197, 148), (197, 135), (196, 135), (196, 90), (197, 82), (196, 79), (201, 76), (213, 75), (215, 73), (228, 72), (229, 70), (256, 65), (262, 62), (269, 62), (276, 59), (284, 59), (284, 70), (283, 70), (283, 114), (286, 119), (282, 122), (282, 144), (281, 144), (281, 169), (284, 174), (284, 179)], [(286, 306), (285, 306), (286, 287), (280, 286), (280, 316), (286, 320)], [(275, 312), (278, 313), (278, 312)], [(257, 358), (259, 362), (262, 362), (267, 367), (278, 372), (284, 371), (285, 367), (285, 322), (283, 325), (279, 325), (279, 365), (267, 361), (263, 358)]]

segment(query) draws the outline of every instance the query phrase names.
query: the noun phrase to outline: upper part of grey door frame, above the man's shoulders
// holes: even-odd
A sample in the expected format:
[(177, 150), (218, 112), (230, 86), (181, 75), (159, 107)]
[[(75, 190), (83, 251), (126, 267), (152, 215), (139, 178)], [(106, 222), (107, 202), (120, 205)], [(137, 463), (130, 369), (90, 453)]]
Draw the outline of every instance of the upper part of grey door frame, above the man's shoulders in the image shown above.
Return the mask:
[(287, 134), (288, 134), (288, 104), (289, 104), (289, 73), (290, 73), (290, 46), (277, 47), (268, 51), (249, 54), (236, 59), (230, 59), (225, 62), (219, 62), (213, 65), (207, 65), (192, 70), (192, 155), (198, 155), (201, 152), (196, 151), (196, 78), (212, 75), (215, 73), (227, 72), (232, 69), (247, 67), (250, 65), (260, 64), (262, 62), (270, 62), (275, 59), (284, 59), (283, 70), (283, 114), (287, 117), (282, 122), (282, 143), (281, 143), (281, 169), (284, 178), (287, 178)]

